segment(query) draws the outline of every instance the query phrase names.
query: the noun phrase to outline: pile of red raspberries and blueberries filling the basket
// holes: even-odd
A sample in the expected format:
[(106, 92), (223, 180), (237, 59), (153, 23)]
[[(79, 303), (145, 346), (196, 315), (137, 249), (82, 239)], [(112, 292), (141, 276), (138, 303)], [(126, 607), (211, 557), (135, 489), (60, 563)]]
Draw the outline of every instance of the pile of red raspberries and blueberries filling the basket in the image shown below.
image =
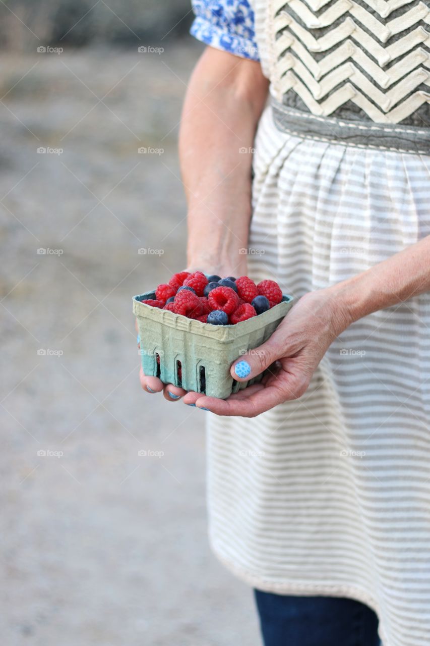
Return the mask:
[(202, 323), (234, 325), (262, 314), (281, 300), (281, 288), (274, 280), (261, 280), (256, 285), (248, 276), (207, 277), (201, 271), (181, 271), (169, 283), (159, 285), (154, 298), (142, 302)]

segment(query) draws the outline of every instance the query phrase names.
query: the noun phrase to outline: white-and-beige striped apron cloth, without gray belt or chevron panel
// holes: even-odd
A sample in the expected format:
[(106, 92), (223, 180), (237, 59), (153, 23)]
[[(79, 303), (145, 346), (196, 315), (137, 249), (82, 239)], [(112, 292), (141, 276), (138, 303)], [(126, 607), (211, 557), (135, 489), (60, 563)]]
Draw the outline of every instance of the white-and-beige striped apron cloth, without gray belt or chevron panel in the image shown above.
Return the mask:
[[(276, 79), (270, 3), (254, 5)], [(428, 155), (294, 136), (268, 107), (254, 172), (249, 274), (296, 297), (430, 234)], [(300, 400), (208, 413), (214, 552), (261, 590), (367, 603), (384, 646), (430, 643), (429, 328), (427, 293), (342, 333)]]

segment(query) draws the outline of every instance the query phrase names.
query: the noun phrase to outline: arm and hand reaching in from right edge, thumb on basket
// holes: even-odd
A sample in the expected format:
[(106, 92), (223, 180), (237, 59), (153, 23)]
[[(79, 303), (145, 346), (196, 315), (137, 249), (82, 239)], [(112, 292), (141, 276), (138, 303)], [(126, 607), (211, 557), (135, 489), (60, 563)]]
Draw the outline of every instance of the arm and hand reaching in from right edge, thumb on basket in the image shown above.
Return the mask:
[[(351, 323), (425, 291), (430, 291), (430, 236), (353, 278), (300, 298), (270, 339), (232, 364), (232, 377), (244, 381), (278, 362), (260, 384), (225, 401), (197, 393), (189, 393), (184, 401), (218, 415), (255, 417), (277, 404), (298, 399), (331, 343)], [(234, 371), (241, 361), (250, 368), (245, 379)]]

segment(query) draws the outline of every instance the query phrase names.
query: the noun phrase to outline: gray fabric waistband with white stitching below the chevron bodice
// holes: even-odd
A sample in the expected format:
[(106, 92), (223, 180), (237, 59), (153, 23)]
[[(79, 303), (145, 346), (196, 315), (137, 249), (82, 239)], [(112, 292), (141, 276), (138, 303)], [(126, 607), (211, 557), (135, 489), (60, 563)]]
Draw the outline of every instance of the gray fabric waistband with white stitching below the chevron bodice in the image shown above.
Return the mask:
[(359, 148), (430, 154), (430, 124), (422, 128), (374, 121), (345, 121), (320, 117), (271, 100), (276, 127), (283, 132), (318, 141)]

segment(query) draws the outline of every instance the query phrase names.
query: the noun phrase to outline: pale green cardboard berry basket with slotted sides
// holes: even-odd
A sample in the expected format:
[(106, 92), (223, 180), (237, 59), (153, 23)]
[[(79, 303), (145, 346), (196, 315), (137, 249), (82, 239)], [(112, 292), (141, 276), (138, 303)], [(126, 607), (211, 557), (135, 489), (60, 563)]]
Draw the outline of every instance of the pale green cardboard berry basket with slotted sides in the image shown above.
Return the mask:
[(258, 375), (238, 382), (230, 375), (230, 366), (269, 339), (294, 302), (292, 296), (283, 295), (278, 305), (257, 317), (216, 326), (141, 302), (148, 298), (155, 298), (153, 291), (133, 297), (145, 375), (220, 399), (261, 380)]

